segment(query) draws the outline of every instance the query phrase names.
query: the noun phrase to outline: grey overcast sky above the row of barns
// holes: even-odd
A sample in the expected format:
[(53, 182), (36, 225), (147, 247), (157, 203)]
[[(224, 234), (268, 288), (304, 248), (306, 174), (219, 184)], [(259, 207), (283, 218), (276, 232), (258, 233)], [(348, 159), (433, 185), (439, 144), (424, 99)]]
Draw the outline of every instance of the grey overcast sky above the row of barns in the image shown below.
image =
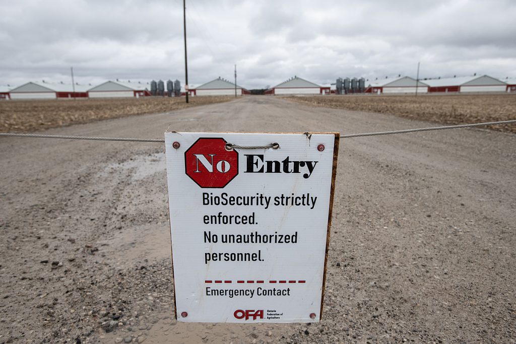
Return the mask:
[[(188, 78), (516, 77), (516, 1), (187, 0)], [(182, 0), (0, 0), (0, 85), (180, 79)]]

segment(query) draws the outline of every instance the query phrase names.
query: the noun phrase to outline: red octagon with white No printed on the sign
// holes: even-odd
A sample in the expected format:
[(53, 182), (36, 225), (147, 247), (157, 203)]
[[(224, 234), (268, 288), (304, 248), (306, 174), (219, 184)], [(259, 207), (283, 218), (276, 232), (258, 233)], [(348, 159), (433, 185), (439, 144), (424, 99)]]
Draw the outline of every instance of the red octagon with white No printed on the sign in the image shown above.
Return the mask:
[(238, 174), (238, 153), (223, 138), (200, 138), (185, 152), (186, 174), (201, 188), (223, 188)]

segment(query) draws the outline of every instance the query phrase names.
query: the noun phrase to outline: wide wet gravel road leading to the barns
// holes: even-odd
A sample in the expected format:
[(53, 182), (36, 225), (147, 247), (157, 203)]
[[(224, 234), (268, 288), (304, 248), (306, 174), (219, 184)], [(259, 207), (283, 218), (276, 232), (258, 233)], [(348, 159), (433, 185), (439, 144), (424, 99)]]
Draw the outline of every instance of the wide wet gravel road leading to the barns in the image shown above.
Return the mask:
[[(341, 134), (430, 126), (275, 97), (47, 130)], [(161, 144), (0, 139), (0, 343), (514, 343), (516, 135), (341, 141), (323, 319), (173, 319)]]

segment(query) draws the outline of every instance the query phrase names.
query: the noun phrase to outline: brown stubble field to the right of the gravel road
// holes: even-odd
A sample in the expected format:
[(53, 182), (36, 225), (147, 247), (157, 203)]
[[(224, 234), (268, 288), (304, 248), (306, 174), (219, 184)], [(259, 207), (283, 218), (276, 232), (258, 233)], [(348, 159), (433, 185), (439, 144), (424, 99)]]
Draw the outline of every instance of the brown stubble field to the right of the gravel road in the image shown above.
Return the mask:
[[(370, 111), (441, 124), (516, 119), (516, 94), (289, 96), (288, 100), (336, 109)], [(516, 133), (514, 125), (491, 129)]]

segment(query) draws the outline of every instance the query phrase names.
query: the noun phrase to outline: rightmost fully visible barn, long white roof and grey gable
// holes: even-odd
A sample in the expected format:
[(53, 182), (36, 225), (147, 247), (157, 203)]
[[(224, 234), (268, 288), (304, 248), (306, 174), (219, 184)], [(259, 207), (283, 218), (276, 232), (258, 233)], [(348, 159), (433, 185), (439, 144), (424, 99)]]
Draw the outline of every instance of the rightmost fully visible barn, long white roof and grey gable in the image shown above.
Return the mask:
[(429, 92), (505, 92), (507, 84), (488, 75), (424, 80)]

